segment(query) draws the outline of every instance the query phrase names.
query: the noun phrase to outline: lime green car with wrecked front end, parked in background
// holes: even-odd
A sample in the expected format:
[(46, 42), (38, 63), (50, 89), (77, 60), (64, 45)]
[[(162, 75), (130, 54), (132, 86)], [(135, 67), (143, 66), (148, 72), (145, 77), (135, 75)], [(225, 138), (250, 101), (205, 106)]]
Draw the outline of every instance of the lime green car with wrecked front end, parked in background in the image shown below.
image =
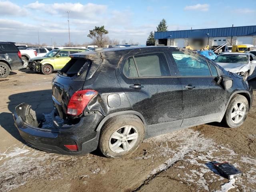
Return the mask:
[(44, 57), (35, 57), (28, 60), (28, 68), (45, 75), (61, 70), (70, 61), (70, 54), (83, 52), (83, 49), (54, 49)]

